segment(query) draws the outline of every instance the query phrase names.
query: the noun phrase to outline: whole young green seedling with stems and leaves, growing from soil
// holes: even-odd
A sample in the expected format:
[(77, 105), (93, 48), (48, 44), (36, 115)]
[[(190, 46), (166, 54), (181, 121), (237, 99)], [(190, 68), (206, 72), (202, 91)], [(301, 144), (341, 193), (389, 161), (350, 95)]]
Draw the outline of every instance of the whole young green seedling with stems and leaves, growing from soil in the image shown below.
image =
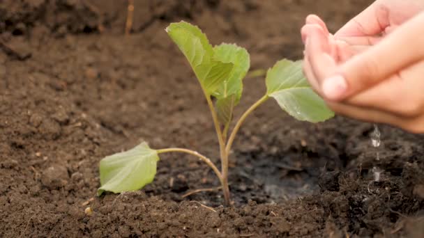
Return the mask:
[[(239, 104), (243, 78), (250, 68), (248, 51), (237, 45), (212, 47), (197, 26), (187, 22), (172, 23), (166, 29), (169, 37), (183, 52), (200, 83), (211, 111), (220, 148), (221, 169), (206, 156), (184, 148), (153, 150), (147, 143), (100, 161), (98, 195), (103, 191), (121, 193), (142, 189), (153, 181), (159, 154), (182, 152), (204, 161), (220, 180), (225, 203), (230, 204), (228, 159), (234, 138), (244, 120), (257, 107), (273, 97), (280, 107), (297, 120), (321, 122), (333, 116), (321, 98), (303, 77), (301, 61), (283, 59), (266, 73), (266, 93), (245, 111), (229, 133), (234, 106)], [(215, 103), (213, 102), (215, 100)]]

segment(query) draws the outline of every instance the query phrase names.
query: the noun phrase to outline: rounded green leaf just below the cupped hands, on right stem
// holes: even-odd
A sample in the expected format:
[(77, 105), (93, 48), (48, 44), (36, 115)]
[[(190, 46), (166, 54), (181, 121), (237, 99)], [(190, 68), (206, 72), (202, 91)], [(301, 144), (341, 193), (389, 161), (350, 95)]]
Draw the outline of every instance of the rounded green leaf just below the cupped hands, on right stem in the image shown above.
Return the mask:
[(301, 61), (282, 60), (266, 74), (266, 94), (297, 120), (321, 122), (334, 116), (303, 76)]

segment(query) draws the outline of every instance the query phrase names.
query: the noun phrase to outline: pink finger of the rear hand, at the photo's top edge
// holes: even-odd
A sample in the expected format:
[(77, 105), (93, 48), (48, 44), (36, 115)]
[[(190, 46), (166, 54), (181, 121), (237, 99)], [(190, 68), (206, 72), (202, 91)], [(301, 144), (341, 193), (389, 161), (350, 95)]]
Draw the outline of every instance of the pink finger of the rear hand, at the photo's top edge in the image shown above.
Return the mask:
[(335, 33), (339, 36), (363, 36), (377, 35), (384, 32), (390, 22), (388, 21), (388, 9), (380, 3), (374, 1), (368, 8), (351, 19), (345, 26)]

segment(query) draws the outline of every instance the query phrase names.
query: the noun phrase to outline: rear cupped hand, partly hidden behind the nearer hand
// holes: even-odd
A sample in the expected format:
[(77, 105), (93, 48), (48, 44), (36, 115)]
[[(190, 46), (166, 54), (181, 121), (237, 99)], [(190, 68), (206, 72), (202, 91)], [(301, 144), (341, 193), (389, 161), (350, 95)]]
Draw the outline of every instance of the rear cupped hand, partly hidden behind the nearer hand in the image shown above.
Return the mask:
[(360, 53), (371, 45), (375, 45), (388, 33), (398, 28), (424, 10), (422, 0), (377, 0), (362, 13), (351, 19), (335, 35), (331, 35), (326, 24), (315, 15), (306, 18), (306, 24), (301, 31), (302, 40), (311, 27), (320, 26), (329, 37), (335, 59), (346, 61), (351, 56)]

